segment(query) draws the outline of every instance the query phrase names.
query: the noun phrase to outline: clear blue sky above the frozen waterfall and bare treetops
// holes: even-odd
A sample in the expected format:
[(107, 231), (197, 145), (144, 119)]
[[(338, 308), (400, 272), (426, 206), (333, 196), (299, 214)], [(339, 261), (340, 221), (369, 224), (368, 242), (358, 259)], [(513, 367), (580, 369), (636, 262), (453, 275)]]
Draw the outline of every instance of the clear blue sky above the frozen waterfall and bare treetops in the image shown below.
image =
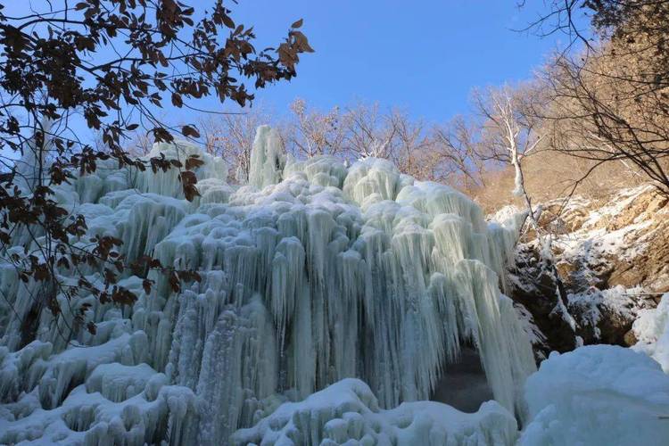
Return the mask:
[[(198, 0), (199, 4), (207, 4)], [(300, 96), (318, 108), (356, 100), (397, 106), (429, 121), (467, 112), (473, 87), (531, 76), (564, 36), (523, 29), (542, 2), (516, 0), (240, 0), (235, 21), (252, 23), (259, 41), (275, 43), (303, 18), (316, 50), (298, 76), (257, 95), (275, 111)]]

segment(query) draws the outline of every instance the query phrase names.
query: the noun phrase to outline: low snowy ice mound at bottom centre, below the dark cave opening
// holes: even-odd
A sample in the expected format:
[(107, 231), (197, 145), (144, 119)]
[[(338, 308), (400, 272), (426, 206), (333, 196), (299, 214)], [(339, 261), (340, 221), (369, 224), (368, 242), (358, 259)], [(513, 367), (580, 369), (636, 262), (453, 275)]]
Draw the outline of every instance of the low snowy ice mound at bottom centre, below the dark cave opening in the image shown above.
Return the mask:
[(516, 419), (495, 401), (473, 414), (431, 401), (380, 409), (374, 393), (358, 379), (344, 379), (299, 402), (285, 402), (233, 444), (512, 445)]

